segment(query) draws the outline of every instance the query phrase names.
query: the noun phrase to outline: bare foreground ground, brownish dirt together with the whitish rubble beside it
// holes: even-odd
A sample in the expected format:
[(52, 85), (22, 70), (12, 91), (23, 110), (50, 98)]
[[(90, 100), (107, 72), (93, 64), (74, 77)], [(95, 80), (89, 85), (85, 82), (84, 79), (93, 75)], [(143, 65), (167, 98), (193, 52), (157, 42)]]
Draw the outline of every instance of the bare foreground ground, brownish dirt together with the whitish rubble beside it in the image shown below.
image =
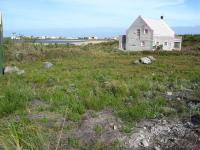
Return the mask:
[[(121, 132), (124, 123), (117, 119), (111, 110), (95, 113), (87, 112), (82, 121), (61, 138), (61, 149), (70, 149), (69, 139), (76, 139), (77, 149), (91, 149), (96, 141), (110, 149), (193, 149), (200, 147), (200, 136), (193, 130), (190, 122), (150, 120), (142, 121), (134, 127), (131, 134)], [(96, 128), (100, 127), (99, 132)]]

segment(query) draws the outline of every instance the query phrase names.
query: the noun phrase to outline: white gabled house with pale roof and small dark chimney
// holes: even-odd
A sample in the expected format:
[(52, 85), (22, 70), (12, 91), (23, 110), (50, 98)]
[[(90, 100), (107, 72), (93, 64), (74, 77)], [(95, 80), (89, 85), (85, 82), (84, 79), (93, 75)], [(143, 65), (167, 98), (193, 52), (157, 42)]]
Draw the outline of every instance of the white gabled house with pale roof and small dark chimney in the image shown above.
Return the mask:
[(128, 51), (181, 50), (181, 45), (182, 37), (176, 36), (163, 16), (157, 20), (139, 16), (119, 38), (119, 48)]

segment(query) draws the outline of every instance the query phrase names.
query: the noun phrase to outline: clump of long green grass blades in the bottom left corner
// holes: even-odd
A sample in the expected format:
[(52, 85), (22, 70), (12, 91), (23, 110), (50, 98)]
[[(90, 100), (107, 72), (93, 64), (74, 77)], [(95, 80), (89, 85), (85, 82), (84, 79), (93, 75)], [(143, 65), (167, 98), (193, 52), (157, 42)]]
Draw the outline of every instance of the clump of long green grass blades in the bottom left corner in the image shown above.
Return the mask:
[(41, 129), (29, 121), (1, 123), (0, 149), (5, 150), (42, 150), (48, 149)]

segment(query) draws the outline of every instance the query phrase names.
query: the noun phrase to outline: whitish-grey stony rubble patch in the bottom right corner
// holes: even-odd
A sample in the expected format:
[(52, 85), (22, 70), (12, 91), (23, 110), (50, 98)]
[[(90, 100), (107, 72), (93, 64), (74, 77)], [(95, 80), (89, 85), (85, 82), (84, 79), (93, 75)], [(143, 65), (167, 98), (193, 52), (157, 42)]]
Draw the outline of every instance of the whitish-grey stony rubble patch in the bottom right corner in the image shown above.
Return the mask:
[(125, 138), (126, 149), (195, 149), (200, 146), (193, 124), (180, 121), (151, 120), (140, 122), (130, 137)]

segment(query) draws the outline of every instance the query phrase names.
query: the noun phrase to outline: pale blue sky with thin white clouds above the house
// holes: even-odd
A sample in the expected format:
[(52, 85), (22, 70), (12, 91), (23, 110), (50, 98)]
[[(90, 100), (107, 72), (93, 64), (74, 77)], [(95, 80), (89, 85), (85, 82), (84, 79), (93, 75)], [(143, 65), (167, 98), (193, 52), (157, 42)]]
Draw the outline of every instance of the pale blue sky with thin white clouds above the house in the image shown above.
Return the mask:
[(164, 15), (170, 26), (184, 30), (200, 27), (199, 0), (0, 0), (0, 11), (7, 36), (114, 36), (138, 15)]

